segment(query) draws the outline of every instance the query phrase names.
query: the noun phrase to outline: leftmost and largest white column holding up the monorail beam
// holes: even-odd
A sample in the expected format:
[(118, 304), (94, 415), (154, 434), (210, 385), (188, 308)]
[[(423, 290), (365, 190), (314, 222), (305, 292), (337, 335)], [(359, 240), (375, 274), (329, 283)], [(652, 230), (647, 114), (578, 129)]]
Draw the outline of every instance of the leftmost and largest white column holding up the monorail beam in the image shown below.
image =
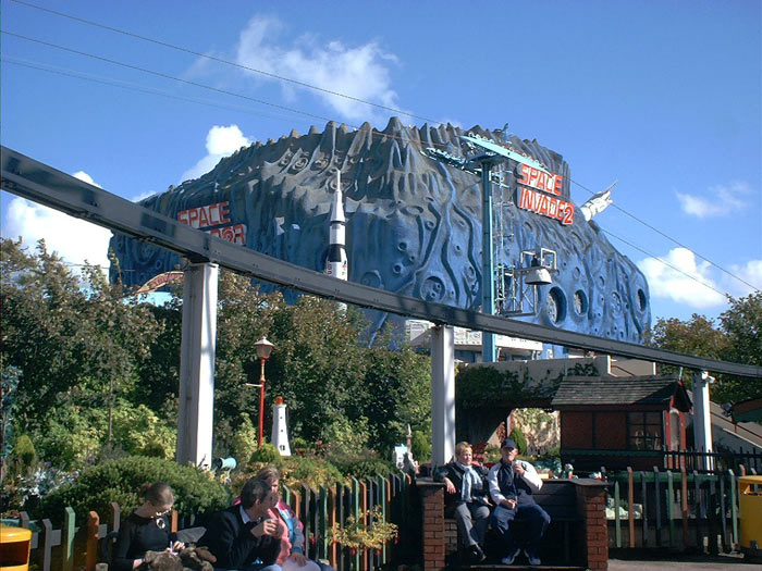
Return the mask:
[(218, 274), (214, 263), (194, 263), (183, 286), (176, 460), (207, 468), (212, 460)]

